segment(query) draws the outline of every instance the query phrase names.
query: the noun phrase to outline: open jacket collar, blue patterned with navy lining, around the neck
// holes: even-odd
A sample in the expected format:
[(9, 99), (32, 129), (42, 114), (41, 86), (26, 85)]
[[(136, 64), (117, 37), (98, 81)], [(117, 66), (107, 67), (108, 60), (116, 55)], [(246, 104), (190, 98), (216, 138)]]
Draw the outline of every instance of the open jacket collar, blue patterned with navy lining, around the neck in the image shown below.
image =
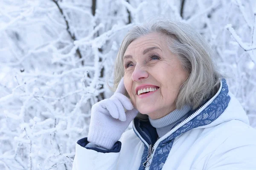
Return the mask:
[[(195, 110), (187, 113), (187, 117), (177, 123), (179, 128), (170, 135), (162, 137), (162, 142), (168, 142), (178, 135), (185, 133), (194, 128), (205, 126), (215, 121), (227, 108), (230, 96), (228, 95), (228, 86), (225, 79), (222, 79), (221, 86), (214, 97), (201, 104)], [(144, 144), (150, 145), (157, 141), (157, 131), (151, 126), (149, 121), (140, 121), (138, 118), (133, 120), (133, 130), (135, 134), (143, 141)]]

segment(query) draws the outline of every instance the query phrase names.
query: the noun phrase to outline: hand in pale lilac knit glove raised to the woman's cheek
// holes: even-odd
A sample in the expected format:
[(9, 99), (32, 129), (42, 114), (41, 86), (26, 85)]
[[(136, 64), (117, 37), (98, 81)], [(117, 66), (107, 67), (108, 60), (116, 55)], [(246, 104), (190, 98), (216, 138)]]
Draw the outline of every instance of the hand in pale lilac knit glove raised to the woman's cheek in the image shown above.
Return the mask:
[(89, 142), (110, 150), (136, 117), (137, 109), (124, 94), (122, 78), (111, 98), (93, 104), (87, 137)]

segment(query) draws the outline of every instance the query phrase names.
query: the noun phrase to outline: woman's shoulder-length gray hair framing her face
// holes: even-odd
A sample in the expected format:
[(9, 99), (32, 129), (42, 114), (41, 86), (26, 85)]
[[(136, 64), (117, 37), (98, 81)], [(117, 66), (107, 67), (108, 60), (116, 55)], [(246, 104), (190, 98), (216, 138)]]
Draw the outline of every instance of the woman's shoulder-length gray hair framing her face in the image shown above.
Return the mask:
[[(167, 19), (154, 19), (134, 26), (124, 37), (115, 61), (114, 86), (124, 76), (123, 56), (129, 44), (135, 39), (150, 33), (166, 35), (170, 51), (177, 54), (188, 78), (180, 87), (176, 99), (176, 109), (189, 105), (198, 108), (218, 91), (222, 75), (212, 61), (213, 52), (208, 43), (192, 27), (185, 23)], [(125, 94), (128, 98), (128, 93)], [(148, 120), (148, 115), (139, 113), (137, 118)]]

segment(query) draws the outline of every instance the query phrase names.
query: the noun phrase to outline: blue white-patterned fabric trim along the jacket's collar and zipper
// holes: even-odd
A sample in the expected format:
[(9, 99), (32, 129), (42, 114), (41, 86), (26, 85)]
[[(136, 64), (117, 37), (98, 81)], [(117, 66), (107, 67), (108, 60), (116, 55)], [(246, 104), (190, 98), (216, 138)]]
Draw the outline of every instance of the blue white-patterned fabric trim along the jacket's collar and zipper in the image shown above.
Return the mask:
[[(163, 168), (163, 164), (165, 163), (169, 155), (169, 152), (172, 148), (173, 141), (177, 136), (189, 130), (192, 130), (196, 127), (200, 127), (200, 126), (204, 126), (212, 123), (212, 121), (215, 121), (215, 119), (217, 119), (221, 115), (221, 113), (224, 112), (224, 110), (227, 108), (228, 103), (230, 101), (230, 96), (228, 95), (228, 91), (229, 90), (228, 90), (226, 80), (222, 79), (221, 92), (212, 101), (212, 103), (210, 103), (204, 110), (202, 110), (191, 121), (187, 122), (178, 130), (176, 130), (174, 133), (172, 133), (170, 136), (168, 136), (166, 139), (161, 141), (160, 144), (157, 146), (157, 148), (155, 148), (155, 154), (151, 161), (150, 170), (161, 170)], [(196, 110), (197, 109), (190, 111), (189, 112), (190, 114), (188, 114), (188, 116), (194, 113)], [(145, 162), (146, 160), (145, 157), (147, 156), (147, 150), (148, 148), (145, 147), (143, 156), (142, 156), (142, 162)], [(139, 170), (145, 169), (145, 167), (143, 168), (142, 167), (143, 165), (140, 166)]]

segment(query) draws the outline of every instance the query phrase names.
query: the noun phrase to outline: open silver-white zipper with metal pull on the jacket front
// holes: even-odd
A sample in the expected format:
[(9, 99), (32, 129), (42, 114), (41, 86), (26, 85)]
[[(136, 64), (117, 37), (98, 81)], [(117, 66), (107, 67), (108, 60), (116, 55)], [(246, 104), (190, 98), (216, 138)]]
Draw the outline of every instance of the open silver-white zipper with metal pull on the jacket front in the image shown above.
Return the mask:
[(135, 128), (135, 125), (134, 125), (134, 129), (136, 131), (136, 133), (140, 136), (141, 140), (146, 144), (146, 146), (148, 147), (148, 156), (147, 156), (147, 160), (143, 163), (143, 166), (144, 164), (146, 163), (146, 165), (148, 166), (144, 166), (145, 167), (145, 170), (149, 170), (149, 167), (150, 167), (150, 159), (152, 157), (154, 157), (154, 148), (156, 148), (156, 146), (160, 143), (160, 141), (163, 141), (163, 139), (167, 138), (169, 135), (171, 135), (172, 133), (174, 133), (177, 129), (179, 129), (180, 127), (182, 127), (184, 124), (186, 124), (187, 122), (189, 122), (192, 118), (194, 118), (197, 113), (203, 109), (205, 109), (209, 103), (211, 103), (215, 98), (216, 96), (221, 92), (221, 89), (222, 89), (222, 81), (221, 81), (221, 85), (220, 85), (220, 88), (218, 90), (218, 92), (209, 100), (207, 101), (206, 104), (204, 104), (203, 106), (201, 106), (197, 111), (195, 111), (192, 115), (190, 115), (188, 118), (186, 118), (185, 120), (183, 120), (182, 122), (180, 122), (179, 124), (177, 124), (174, 128), (172, 128), (172, 130), (169, 131), (169, 133), (166, 133), (165, 135), (163, 135), (161, 138), (159, 138), (153, 147), (151, 147), (151, 145), (148, 145), (148, 143), (142, 138), (142, 136), (138, 133), (138, 131), (136, 130)]

